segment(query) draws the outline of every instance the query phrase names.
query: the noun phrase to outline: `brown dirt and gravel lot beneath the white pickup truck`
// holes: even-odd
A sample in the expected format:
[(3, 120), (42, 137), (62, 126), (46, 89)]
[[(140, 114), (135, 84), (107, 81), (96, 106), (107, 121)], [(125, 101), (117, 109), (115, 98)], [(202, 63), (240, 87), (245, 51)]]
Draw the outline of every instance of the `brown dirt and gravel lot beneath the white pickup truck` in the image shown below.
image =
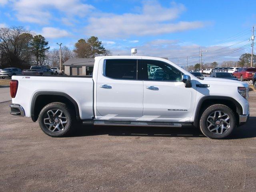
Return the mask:
[(256, 191), (256, 92), (232, 138), (193, 128), (79, 127), (51, 138), (0, 103), (0, 191)]

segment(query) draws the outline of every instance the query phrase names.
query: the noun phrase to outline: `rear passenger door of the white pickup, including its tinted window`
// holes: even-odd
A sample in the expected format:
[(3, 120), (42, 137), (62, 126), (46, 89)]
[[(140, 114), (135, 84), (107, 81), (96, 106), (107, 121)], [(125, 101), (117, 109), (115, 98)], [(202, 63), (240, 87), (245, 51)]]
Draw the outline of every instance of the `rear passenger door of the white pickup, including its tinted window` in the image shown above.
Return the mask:
[[(140, 59), (141, 60), (141, 59)], [(135, 120), (142, 116), (143, 81), (137, 59), (106, 59), (96, 83), (97, 120)]]

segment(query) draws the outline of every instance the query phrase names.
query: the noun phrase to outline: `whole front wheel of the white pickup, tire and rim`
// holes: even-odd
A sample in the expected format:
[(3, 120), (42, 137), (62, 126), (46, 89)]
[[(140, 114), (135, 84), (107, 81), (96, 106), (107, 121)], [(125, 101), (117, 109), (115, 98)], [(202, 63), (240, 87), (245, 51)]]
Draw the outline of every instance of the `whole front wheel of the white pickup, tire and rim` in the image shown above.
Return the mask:
[(209, 106), (200, 118), (201, 132), (211, 139), (224, 139), (236, 127), (236, 116), (226, 105), (214, 104)]

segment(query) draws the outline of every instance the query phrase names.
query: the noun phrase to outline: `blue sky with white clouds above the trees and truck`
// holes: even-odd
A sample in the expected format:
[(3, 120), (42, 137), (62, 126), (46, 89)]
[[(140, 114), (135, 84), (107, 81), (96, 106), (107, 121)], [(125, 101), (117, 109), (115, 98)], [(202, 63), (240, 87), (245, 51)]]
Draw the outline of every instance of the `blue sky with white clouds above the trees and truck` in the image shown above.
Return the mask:
[(189, 56), (194, 64), (200, 46), (204, 62), (235, 61), (251, 52), (246, 39), (256, 25), (254, 4), (253, 0), (0, 0), (0, 27), (24, 26), (45, 36), (51, 48), (62, 42), (73, 49), (78, 39), (94, 35), (113, 55), (130, 55), (130, 49), (137, 48), (138, 55), (174, 58), (170, 60), (180, 64)]

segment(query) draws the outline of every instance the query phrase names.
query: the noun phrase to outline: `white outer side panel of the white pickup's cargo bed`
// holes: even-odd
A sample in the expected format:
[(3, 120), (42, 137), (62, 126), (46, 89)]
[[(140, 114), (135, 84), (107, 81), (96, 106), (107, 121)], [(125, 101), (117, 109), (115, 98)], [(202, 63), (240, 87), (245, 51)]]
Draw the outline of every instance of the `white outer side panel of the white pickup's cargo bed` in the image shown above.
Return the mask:
[(39, 92), (67, 94), (78, 104), (81, 119), (90, 119), (94, 115), (91, 76), (18, 75), (12, 76), (12, 80), (18, 80), (18, 91), (13, 103), (24, 108), (26, 117), (30, 117), (33, 97)]

